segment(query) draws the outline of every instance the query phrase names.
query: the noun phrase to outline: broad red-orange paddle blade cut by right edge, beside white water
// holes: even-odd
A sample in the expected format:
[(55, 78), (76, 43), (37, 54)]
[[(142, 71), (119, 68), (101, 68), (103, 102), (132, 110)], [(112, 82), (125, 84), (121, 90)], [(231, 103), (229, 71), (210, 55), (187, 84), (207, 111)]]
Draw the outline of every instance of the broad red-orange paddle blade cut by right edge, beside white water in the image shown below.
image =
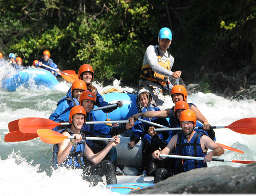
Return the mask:
[(243, 118), (225, 126), (225, 128), (241, 134), (254, 135), (256, 134), (256, 118)]

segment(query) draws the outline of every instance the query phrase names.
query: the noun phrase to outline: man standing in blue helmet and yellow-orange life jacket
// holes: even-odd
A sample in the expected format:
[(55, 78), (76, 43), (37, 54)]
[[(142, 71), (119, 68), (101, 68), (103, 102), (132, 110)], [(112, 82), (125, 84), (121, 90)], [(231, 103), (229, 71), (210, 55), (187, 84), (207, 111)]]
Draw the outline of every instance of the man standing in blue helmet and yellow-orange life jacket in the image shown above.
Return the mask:
[(172, 42), (172, 32), (163, 27), (158, 34), (158, 45), (148, 46), (141, 67), (138, 90), (146, 88), (152, 94), (153, 101), (161, 110), (165, 109), (165, 92), (173, 87), (169, 77), (180, 78), (181, 71), (172, 72), (174, 58), (167, 51)]

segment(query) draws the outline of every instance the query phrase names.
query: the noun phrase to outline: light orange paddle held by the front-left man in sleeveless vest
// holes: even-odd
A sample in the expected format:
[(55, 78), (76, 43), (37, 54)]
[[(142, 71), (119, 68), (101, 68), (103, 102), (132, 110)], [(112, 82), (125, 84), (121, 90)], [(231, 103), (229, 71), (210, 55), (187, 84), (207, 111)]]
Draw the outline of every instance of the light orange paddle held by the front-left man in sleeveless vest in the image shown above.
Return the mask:
[[(67, 138), (75, 138), (74, 136), (64, 136), (63, 134), (50, 129), (37, 129), (37, 134), (42, 142), (52, 144), (61, 143)], [(115, 138), (83, 137), (83, 140), (115, 141)]]

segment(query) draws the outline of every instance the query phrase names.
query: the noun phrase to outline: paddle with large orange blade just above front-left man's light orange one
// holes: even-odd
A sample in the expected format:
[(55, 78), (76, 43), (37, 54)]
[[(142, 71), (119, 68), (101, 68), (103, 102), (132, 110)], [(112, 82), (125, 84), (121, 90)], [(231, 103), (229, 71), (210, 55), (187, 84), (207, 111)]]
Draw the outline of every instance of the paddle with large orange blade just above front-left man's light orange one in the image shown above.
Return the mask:
[[(18, 126), (17, 126), (18, 121)], [(91, 121), (86, 122), (87, 125), (91, 124), (108, 124), (108, 123), (128, 123), (128, 120), (112, 120), (112, 121)], [(69, 125), (69, 122), (58, 123), (47, 118), (21, 118), (19, 120), (12, 121), (8, 124), (9, 131), (20, 130), (23, 133), (35, 134), (37, 129), (53, 129), (58, 125)]]

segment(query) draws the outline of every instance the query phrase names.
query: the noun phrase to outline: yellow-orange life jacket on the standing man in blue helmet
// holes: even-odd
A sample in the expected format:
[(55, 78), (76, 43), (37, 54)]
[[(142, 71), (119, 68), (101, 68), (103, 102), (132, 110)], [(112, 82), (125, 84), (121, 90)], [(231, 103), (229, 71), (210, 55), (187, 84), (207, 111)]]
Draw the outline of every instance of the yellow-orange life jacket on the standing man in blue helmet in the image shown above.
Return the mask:
[[(160, 56), (160, 52), (159, 52), (158, 48), (156, 48), (156, 49), (158, 51), (158, 56), (157, 56), (158, 65), (161, 65), (163, 68), (170, 70), (171, 64), (170, 64), (169, 59), (167, 59), (167, 61), (163, 63), (161, 56)], [(170, 56), (170, 54), (169, 54), (169, 56)], [(167, 76), (161, 75), (161, 74), (153, 71), (150, 64), (142, 65), (140, 78), (145, 78), (152, 82), (158, 82), (163, 87), (166, 85), (166, 82), (167, 82)]]

